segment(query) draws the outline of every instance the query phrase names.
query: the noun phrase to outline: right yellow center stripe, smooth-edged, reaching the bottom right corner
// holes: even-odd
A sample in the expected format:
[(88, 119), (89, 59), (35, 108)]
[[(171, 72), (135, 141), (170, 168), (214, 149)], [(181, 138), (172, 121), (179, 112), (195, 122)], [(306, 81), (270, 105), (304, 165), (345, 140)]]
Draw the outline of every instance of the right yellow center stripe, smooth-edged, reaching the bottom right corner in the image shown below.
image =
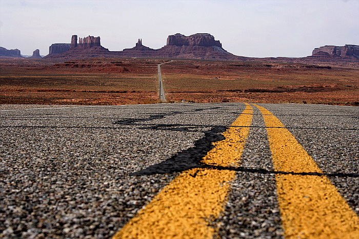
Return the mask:
[[(275, 170), (322, 173), (282, 122), (257, 107), (267, 127)], [(358, 216), (326, 176), (278, 174), (276, 186), (286, 238), (359, 238)]]

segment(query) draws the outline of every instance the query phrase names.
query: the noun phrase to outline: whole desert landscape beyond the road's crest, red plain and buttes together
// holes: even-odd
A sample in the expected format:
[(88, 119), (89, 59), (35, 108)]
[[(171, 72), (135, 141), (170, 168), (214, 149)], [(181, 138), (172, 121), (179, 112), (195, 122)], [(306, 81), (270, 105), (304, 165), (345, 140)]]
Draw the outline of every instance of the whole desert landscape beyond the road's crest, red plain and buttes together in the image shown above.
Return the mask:
[(158, 103), (157, 65), (167, 102), (359, 104), (359, 46), (315, 48), (300, 58), (236, 56), (208, 33), (169, 35), (167, 45), (109, 51), (100, 37), (72, 35), (42, 58), (2, 48), (1, 104)]

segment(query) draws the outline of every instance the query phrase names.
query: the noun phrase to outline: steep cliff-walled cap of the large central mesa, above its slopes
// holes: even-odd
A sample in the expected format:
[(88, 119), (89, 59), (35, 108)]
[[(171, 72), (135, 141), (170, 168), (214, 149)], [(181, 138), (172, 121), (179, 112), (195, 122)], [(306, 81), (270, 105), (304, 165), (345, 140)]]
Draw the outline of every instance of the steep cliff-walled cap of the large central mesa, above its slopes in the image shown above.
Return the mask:
[(170, 35), (167, 37), (167, 46), (198, 46), (198, 47), (221, 47), (219, 40), (215, 40), (214, 36), (208, 33), (196, 33), (190, 36), (185, 36), (180, 33)]

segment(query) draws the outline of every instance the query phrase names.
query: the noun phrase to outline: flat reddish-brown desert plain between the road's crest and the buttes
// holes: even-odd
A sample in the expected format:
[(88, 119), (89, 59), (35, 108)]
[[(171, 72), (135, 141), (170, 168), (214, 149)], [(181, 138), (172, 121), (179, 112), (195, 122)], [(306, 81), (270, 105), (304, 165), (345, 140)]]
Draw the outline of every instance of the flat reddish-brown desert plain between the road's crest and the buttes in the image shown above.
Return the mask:
[[(158, 102), (164, 59), (56, 62), (0, 59), (1, 104)], [(333, 65), (332, 65), (333, 66)], [(359, 67), (264, 61), (174, 60), (161, 67), (166, 99), (193, 102), (359, 105)]]

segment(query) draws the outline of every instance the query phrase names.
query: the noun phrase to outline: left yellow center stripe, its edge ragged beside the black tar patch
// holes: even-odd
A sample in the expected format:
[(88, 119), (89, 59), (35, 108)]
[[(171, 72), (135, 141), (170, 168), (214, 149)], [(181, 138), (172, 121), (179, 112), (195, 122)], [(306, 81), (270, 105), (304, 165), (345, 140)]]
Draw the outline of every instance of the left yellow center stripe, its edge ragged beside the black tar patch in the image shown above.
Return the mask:
[[(250, 126), (249, 104), (232, 126)], [(249, 114), (249, 115), (248, 115)], [(249, 127), (230, 127), (226, 139), (214, 143), (203, 163), (235, 165), (242, 155)], [(228, 160), (230, 159), (230, 160)], [(209, 226), (224, 210), (235, 171), (193, 168), (182, 172), (119, 230), (113, 238), (212, 238)]]

